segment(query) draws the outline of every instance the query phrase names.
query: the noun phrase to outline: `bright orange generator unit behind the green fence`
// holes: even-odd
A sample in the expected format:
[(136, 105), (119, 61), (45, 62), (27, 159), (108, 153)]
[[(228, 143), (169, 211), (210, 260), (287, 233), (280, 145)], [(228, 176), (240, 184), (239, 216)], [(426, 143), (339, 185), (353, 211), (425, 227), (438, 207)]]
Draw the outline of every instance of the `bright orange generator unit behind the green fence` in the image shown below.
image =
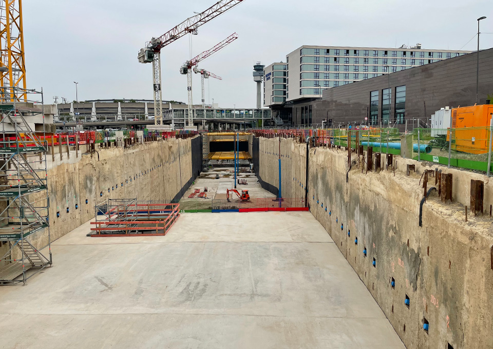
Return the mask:
[[(488, 152), (493, 104), (452, 109), (452, 150), (470, 154)], [(447, 132), (450, 141), (450, 131)]]

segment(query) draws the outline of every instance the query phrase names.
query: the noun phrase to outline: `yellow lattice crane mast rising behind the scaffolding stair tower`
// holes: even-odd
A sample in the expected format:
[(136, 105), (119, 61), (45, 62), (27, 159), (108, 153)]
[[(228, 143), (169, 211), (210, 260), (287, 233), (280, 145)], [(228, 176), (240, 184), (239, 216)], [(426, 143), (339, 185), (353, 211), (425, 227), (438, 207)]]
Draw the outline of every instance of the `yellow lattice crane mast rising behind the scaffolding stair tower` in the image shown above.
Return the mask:
[(23, 30), (22, 0), (0, 0), (0, 94), (3, 102), (27, 99)]

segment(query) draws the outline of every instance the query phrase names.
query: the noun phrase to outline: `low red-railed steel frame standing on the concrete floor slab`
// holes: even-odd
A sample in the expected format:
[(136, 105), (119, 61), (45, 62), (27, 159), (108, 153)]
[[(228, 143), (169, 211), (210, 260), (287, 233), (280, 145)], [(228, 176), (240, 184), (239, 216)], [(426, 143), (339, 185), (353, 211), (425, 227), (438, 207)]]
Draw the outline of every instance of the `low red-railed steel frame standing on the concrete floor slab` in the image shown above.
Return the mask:
[[(137, 220), (134, 221), (113, 221), (113, 220), (105, 220), (100, 222), (91, 222), (91, 224), (96, 225), (96, 228), (91, 228), (91, 231), (97, 231), (99, 234), (93, 234), (91, 237), (136, 237), (136, 236), (165, 236), (169, 229), (175, 224), (176, 219), (180, 217), (180, 204), (137, 204), (133, 205), (137, 210)], [(150, 207), (153, 207), (152, 209)], [(168, 207), (172, 206), (172, 209)], [(159, 209), (159, 207), (163, 207), (163, 209)], [(159, 210), (160, 214), (152, 214), (151, 211)], [(124, 213), (120, 211), (112, 212), (111, 215)], [(169, 214), (164, 220), (151, 220), (154, 217), (162, 214)], [(141, 220), (145, 218), (147, 220)], [(112, 226), (112, 225), (125, 225), (125, 227), (121, 226)], [(129, 227), (128, 225), (134, 225)], [(150, 226), (154, 225), (154, 226)], [(127, 234), (101, 234), (101, 231), (126, 231)], [(143, 234), (128, 234), (128, 231), (149, 231), (144, 232)], [(150, 231), (156, 232), (150, 232)], [(162, 232), (161, 232), (162, 231)]]

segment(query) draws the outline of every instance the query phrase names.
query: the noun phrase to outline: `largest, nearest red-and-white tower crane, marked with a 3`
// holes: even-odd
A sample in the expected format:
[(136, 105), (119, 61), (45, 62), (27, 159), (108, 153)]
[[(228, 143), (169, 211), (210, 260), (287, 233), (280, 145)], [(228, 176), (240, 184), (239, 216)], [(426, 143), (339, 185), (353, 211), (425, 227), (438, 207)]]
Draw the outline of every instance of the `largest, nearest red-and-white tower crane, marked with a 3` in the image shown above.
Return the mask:
[(153, 64), (154, 80), (154, 115), (155, 124), (163, 124), (163, 102), (161, 94), (161, 49), (183, 37), (187, 33), (197, 34), (197, 28), (213, 20), (220, 14), (238, 5), (244, 0), (221, 0), (205, 11), (187, 18), (185, 21), (159, 37), (153, 37), (139, 51), (140, 63)]

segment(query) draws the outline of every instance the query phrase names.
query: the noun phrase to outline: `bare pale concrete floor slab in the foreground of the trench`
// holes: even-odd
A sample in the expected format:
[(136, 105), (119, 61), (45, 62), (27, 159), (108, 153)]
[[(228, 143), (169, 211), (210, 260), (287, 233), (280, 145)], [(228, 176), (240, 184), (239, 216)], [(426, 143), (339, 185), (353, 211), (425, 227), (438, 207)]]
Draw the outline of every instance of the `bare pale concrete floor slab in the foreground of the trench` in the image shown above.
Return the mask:
[(165, 237), (88, 229), (0, 288), (0, 347), (404, 348), (309, 212), (183, 214)]

